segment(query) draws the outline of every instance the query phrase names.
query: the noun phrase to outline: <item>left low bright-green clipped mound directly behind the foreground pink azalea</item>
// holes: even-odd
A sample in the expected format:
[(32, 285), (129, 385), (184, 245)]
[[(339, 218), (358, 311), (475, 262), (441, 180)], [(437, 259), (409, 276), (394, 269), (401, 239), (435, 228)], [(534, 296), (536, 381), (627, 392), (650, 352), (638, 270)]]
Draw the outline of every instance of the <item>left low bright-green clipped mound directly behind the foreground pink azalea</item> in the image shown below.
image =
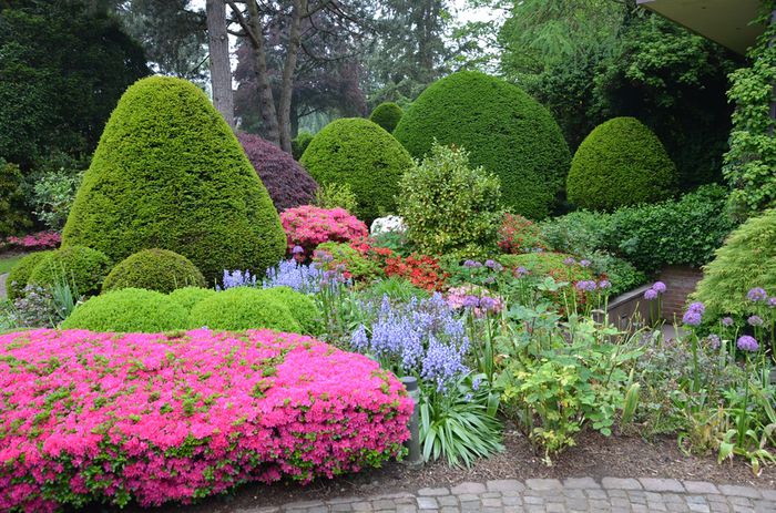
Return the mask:
[(185, 329), (187, 322), (185, 308), (164, 294), (124, 288), (79, 305), (61, 328), (155, 334)]

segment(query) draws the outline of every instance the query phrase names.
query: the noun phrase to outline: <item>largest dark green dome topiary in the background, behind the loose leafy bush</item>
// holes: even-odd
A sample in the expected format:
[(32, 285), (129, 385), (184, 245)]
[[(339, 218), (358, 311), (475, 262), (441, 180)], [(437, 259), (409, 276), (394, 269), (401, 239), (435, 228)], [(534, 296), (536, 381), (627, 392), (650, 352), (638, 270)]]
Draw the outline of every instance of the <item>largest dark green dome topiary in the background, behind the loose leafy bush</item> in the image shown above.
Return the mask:
[(569, 172), (569, 147), (558, 123), (520, 88), (474, 71), (429, 85), (407, 109), (394, 136), (416, 158), (433, 141), (470, 153), (471, 165), (501, 179), (510, 212), (545, 217)]

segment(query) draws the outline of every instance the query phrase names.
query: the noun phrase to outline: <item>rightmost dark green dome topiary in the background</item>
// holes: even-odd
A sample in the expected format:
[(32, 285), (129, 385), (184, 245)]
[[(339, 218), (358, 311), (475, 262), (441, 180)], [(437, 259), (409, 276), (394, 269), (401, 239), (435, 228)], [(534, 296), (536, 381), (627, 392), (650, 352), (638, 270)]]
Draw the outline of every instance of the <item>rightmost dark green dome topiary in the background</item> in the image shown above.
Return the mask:
[(657, 136), (635, 117), (614, 117), (580, 144), (571, 162), (566, 194), (582, 208), (613, 211), (665, 199), (673, 194), (676, 179), (676, 166)]

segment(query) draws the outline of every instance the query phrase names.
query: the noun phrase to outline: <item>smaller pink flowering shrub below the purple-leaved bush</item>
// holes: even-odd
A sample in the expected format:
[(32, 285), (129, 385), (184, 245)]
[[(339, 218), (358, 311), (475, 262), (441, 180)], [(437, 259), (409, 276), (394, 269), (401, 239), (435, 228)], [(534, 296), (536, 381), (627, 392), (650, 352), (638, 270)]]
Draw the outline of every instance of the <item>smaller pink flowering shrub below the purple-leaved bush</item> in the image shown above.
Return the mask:
[(288, 252), (297, 260), (312, 256), (319, 244), (349, 243), (369, 235), (367, 225), (345, 208), (303, 205), (284, 211), (280, 223), (288, 238)]

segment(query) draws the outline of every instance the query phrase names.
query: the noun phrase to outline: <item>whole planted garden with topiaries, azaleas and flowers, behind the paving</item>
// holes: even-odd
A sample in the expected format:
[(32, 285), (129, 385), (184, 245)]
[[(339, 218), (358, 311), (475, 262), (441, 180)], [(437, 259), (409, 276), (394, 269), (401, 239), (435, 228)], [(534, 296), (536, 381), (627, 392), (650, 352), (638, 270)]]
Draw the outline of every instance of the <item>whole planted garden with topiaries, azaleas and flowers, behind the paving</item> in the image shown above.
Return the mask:
[(0, 161), (0, 511), (591, 465), (773, 486), (776, 152), (746, 92), (773, 76), (736, 73), (702, 183), (636, 116), (570, 145), (481, 71), (290, 152), (188, 80), (127, 83), (78, 173)]

